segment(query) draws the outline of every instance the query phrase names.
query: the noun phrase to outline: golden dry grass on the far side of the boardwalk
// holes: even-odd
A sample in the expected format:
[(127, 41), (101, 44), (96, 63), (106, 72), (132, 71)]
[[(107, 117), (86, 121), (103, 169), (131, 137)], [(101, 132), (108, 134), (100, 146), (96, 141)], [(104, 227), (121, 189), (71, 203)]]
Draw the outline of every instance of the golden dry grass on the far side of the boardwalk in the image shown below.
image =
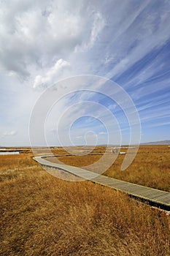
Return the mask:
[[(104, 148), (96, 148), (95, 153), (103, 151)], [(112, 155), (109, 157), (112, 158)], [(119, 155), (104, 175), (170, 192), (170, 149), (168, 146), (140, 146), (134, 162), (126, 170), (121, 171), (120, 167), (124, 157), (125, 155)], [(93, 170), (93, 167), (89, 168), (87, 165), (92, 165), (100, 158), (101, 155), (85, 155), (59, 157), (58, 159), (66, 165)], [(52, 162), (58, 162), (58, 159), (49, 158)], [(97, 170), (93, 171), (97, 172)]]

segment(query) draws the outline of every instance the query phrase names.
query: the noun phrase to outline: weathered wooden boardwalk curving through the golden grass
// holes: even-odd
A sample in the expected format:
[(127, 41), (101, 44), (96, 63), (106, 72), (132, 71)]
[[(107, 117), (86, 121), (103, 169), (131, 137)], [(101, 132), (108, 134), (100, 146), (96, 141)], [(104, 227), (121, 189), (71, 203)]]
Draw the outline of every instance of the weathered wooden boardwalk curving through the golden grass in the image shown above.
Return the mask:
[[(46, 157), (51, 157), (51, 156), (46, 156)], [(143, 201), (147, 201), (153, 206), (163, 208), (167, 211), (170, 210), (170, 193), (169, 192), (165, 192), (158, 189), (152, 189), (150, 187), (144, 187), (137, 184), (132, 184), (127, 181), (120, 181), (115, 178), (109, 178), (107, 176), (99, 175), (98, 173), (93, 173), (89, 170), (85, 170), (80, 167), (60, 165), (60, 164), (48, 161), (47, 159), (45, 159), (46, 157), (34, 157), (34, 159), (36, 160), (36, 162), (39, 162), (39, 164), (41, 165), (63, 170), (66, 173), (70, 173), (74, 176), (78, 176), (85, 180), (90, 180), (107, 187), (112, 187), (113, 189), (117, 189), (121, 192), (125, 192), (128, 195), (139, 198)]]

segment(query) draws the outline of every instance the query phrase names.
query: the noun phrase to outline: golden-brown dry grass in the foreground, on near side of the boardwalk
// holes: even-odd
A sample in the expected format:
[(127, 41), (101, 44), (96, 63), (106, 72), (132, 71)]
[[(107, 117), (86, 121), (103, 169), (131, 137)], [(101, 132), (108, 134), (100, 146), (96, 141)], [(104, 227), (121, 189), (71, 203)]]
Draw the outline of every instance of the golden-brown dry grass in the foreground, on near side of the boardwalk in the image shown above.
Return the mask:
[(1, 255), (169, 255), (165, 212), (90, 181), (50, 176), (31, 155), (0, 163)]

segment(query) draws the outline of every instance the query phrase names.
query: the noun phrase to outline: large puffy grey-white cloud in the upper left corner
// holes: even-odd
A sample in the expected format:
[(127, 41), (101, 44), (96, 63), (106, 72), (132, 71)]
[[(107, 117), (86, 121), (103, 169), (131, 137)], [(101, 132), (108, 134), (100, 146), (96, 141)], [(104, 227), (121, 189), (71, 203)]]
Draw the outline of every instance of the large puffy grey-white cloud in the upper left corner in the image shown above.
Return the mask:
[(34, 77), (74, 55), (78, 45), (92, 48), (103, 28), (101, 12), (93, 2), (1, 1), (0, 67), (24, 79)]

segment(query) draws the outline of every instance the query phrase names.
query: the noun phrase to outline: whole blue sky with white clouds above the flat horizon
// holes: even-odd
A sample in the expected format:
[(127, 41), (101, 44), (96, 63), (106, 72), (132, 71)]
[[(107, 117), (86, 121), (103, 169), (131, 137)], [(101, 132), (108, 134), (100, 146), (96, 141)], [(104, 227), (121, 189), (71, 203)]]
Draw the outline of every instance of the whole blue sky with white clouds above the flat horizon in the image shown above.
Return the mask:
[(0, 146), (170, 139), (169, 0), (0, 0)]

